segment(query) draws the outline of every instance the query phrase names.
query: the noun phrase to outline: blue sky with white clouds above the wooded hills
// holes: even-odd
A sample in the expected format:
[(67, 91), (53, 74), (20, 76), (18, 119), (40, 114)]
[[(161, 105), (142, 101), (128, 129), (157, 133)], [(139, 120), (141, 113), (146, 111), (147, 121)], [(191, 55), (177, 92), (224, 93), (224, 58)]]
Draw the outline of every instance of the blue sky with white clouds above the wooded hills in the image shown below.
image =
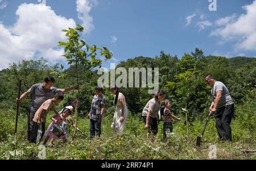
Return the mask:
[(0, 69), (40, 56), (64, 64), (63, 49), (56, 47), (65, 40), (60, 29), (75, 23), (86, 26), (86, 43), (113, 52), (110, 62), (160, 51), (180, 58), (196, 47), (205, 55), (255, 57), (256, 0), (217, 0), (217, 11), (209, 5), (208, 0), (46, 0), (43, 7), (38, 0), (0, 0)]

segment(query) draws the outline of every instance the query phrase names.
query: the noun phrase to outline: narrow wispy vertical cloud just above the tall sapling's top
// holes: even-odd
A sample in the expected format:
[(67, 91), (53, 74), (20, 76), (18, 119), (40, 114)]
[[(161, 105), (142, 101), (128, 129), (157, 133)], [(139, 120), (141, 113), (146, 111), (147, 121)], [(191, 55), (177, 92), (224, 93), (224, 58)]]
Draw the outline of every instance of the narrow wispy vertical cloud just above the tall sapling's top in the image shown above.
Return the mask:
[(93, 6), (98, 5), (97, 0), (76, 0), (76, 11), (78, 12), (78, 18), (82, 21), (82, 27), (86, 34), (94, 30), (93, 18), (89, 15)]

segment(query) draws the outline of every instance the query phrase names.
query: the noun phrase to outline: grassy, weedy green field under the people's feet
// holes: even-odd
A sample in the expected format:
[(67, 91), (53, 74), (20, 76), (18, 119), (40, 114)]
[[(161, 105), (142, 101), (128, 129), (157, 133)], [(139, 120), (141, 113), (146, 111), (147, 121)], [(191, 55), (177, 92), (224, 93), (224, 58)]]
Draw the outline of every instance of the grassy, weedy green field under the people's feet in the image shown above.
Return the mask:
[[(217, 159), (256, 159), (256, 153), (243, 153), (244, 149), (256, 149), (255, 102), (236, 107), (236, 119), (232, 120), (232, 143), (219, 141), (214, 118), (210, 119), (201, 147), (196, 147), (196, 137), (201, 134), (204, 120), (195, 120), (189, 127), (189, 137), (184, 124), (175, 122), (174, 135), (164, 143), (163, 122), (154, 143), (147, 140), (141, 119), (131, 116), (122, 135), (114, 137), (110, 125), (113, 109), (106, 111), (102, 121), (102, 136), (89, 140), (89, 120), (79, 118), (78, 127), (87, 137), (77, 132), (74, 141), (55, 141), (46, 148), (46, 159), (209, 159), (209, 147), (215, 145)], [(48, 118), (52, 113), (48, 114)], [(206, 116), (205, 116), (206, 118)], [(47, 120), (47, 126), (50, 123)], [(0, 159), (39, 159), (38, 145), (26, 142), (27, 118), (19, 116), (18, 135), (15, 139), (15, 110), (0, 110)], [(73, 130), (72, 130), (73, 131)], [(212, 147), (212, 146), (211, 146)]]

